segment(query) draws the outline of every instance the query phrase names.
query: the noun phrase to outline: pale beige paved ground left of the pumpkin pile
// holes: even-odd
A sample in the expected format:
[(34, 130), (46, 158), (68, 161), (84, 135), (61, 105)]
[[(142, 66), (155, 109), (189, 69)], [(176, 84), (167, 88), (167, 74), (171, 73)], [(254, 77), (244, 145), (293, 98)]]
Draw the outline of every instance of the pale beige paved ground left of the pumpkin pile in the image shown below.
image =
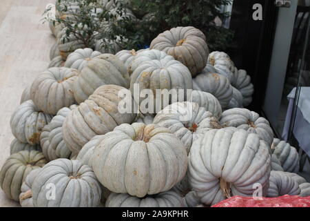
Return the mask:
[[(0, 168), (9, 156), (10, 116), (23, 88), (48, 67), (54, 37), (42, 13), (54, 0), (0, 0)], [(18, 206), (0, 189), (0, 207)]]

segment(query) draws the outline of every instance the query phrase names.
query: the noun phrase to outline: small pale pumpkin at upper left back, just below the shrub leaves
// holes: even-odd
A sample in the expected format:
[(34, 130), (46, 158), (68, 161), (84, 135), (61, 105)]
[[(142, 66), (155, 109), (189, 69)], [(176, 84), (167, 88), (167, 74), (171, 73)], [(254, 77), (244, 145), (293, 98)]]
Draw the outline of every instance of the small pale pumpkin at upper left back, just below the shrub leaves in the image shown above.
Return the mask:
[(72, 52), (65, 61), (65, 67), (81, 71), (94, 57), (101, 55), (101, 52), (92, 48), (79, 48)]

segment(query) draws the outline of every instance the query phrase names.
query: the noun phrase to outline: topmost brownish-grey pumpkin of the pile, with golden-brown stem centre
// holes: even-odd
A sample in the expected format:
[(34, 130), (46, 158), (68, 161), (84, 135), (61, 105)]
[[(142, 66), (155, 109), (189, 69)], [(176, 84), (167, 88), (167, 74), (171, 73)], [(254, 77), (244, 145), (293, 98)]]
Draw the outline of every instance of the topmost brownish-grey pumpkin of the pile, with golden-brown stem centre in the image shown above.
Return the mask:
[(205, 35), (192, 26), (166, 30), (152, 41), (150, 48), (172, 55), (189, 68), (193, 77), (205, 68), (209, 55)]

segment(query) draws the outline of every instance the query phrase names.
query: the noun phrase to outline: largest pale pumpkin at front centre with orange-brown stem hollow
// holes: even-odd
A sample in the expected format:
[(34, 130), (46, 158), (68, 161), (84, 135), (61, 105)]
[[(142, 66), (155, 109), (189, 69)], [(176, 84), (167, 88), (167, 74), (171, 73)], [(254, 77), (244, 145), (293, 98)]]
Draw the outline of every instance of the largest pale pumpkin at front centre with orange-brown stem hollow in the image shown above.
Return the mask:
[(121, 124), (96, 146), (92, 168), (103, 186), (138, 198), (168, 191), (187, 170), (185, 146), (156, 124)]

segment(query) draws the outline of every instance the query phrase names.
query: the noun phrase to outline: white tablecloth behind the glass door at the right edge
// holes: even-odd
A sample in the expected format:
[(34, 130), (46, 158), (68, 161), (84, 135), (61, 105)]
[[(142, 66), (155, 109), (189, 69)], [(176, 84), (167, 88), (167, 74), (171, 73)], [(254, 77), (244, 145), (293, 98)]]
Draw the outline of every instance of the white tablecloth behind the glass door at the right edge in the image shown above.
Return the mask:
[[(293, 113), (296, 88), (287, 95), (289, 107), (285, 118), (285, 126), (282, 132), (282, 139), (287, 141), (289, 135), (289, 124)], [(299, 146), (310, 156), (310, 87), (302, 87), (296, 111), (296, 119), (293, 128), (293, 135), (298, 140)]]

